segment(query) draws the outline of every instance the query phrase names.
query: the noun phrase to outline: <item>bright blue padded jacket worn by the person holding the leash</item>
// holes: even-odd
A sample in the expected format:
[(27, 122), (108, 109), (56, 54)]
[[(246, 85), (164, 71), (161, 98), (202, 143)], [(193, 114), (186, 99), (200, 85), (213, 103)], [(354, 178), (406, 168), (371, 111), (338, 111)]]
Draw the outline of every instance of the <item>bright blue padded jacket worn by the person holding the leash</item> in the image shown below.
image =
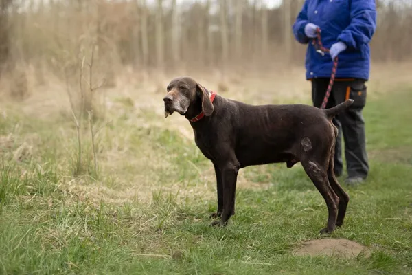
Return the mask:
[(314, 23), (321, 28), (323, 46), (337, 41), (347, 45), (339, 54), (336, 78), (369, 79), (369, 41), (376, 30), (375, 0), (306, 0), (293, 24), (293, 34), (299, 43), (308, 44), (306, 79), (330, 77), (332, 58), (322, 56), (305, 35), (305, 25)]

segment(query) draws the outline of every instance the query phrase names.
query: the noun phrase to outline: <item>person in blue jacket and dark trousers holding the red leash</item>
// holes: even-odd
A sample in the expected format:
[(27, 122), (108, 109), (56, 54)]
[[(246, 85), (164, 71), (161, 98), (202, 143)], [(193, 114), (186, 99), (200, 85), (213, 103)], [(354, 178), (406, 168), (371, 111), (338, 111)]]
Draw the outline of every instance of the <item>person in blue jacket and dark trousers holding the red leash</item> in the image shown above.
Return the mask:
[[(319, 54), (312, 45), (321, 29), (323, 46), (329, 54)], [(334, 154), (334, 172), (343, 173), (342, 133), (345, 140), (347, 184), (364, 181), (369, 172), (362, 111), (366, 104), (370, 70), (369, 42), (376, 30), (375, 0), (306, 0), (293, 24), (295, 39), (308, 44), (306, 79), (312, 82), (312, 102), (321, 107), (332, 73), (333, 61), (339, 55), (336, 79), (326, 108), (352, 98), (354, 103), (334, 118), (339, 129)]]

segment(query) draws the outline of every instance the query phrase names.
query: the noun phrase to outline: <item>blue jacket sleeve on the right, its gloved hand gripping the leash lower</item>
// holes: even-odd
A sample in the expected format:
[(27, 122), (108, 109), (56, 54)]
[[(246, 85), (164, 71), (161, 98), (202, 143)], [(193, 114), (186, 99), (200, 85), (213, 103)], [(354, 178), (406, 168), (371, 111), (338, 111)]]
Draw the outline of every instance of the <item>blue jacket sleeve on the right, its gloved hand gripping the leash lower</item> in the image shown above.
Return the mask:
[(369, 43), (376, 30), (375, 0), (352, 0), (350, 25), (338, 36), (348, 48), (360, 49)]

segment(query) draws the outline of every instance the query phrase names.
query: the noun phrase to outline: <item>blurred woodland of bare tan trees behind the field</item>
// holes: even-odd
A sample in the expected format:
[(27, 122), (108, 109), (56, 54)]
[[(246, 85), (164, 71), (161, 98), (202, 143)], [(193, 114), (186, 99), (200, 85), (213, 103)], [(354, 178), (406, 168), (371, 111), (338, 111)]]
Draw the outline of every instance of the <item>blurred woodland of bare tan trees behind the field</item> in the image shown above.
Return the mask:
[[(25, 88), (29, 68), (37, 84), (47, 82), (49, 73), (63, 79), (76, 72), (92, 44), (105, 85), (114, 85), (125, 67), (156, 76), (176, 69), (259, 72), (303, 66), (306, 47), (291, 30), (303, 2), (267, 8), (260, 0), (180, 5), (176, 0), (1, 0), (0, 77), (24, 94), (30, 89)], [(377, 6), (372, 61), (409, 60), (412, 1), (377, 1)]]

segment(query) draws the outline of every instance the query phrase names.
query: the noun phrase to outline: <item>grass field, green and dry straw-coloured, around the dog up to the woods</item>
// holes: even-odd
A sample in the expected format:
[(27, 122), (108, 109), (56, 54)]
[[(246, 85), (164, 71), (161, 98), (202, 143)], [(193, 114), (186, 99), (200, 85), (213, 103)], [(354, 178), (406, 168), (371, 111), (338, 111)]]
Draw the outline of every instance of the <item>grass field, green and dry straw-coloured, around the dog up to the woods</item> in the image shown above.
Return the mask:
[(76, 170), (70, 113), (34, 95), (1, 105), (0, 274), (411, 274), (412, 85), (389, 91), (379, 81), (365, 108), (370, 176), (344, 186), (345, 225), (328, 237), (366, 245), (370, 257), (293, 255), (327, 217), (301, 166), (241, 170), (236, 215), (211, 228), (213, 167), (183, 118), (163, 120), (161, 94), (148, 95), (157, 110), (133, 92), (110, 96), (96, 122), (98, 170), (87, 125)]

